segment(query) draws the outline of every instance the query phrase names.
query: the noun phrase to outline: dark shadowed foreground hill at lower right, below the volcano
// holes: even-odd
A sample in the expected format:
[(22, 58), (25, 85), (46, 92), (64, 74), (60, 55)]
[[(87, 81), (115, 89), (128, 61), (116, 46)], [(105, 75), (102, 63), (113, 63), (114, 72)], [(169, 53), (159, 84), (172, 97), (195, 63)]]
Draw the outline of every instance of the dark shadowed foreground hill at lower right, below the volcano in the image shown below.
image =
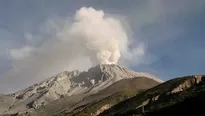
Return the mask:
[(176, 78), (109, 108), (99, 116), (196, 115), (205, 107), (205, 76)]

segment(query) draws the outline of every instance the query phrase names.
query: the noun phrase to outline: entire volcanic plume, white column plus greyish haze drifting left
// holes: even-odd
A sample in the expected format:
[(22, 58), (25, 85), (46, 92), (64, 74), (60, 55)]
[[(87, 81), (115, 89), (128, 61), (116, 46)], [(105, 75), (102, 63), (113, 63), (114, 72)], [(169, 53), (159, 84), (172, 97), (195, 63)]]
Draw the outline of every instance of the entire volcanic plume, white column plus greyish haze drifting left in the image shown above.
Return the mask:
[[(130, 47), (127, 31), (118, 17), (91, 7), (77, 10), (73, 19), (49, 19), (39, 34), (25, 34), (24, 46), (10, 49), (12, 70), (2, 81), (24, 88), (64, 70), (143, 63), (145, 46), (138, 42)], [(14, 80), (19, 81), (13, 85)]]

